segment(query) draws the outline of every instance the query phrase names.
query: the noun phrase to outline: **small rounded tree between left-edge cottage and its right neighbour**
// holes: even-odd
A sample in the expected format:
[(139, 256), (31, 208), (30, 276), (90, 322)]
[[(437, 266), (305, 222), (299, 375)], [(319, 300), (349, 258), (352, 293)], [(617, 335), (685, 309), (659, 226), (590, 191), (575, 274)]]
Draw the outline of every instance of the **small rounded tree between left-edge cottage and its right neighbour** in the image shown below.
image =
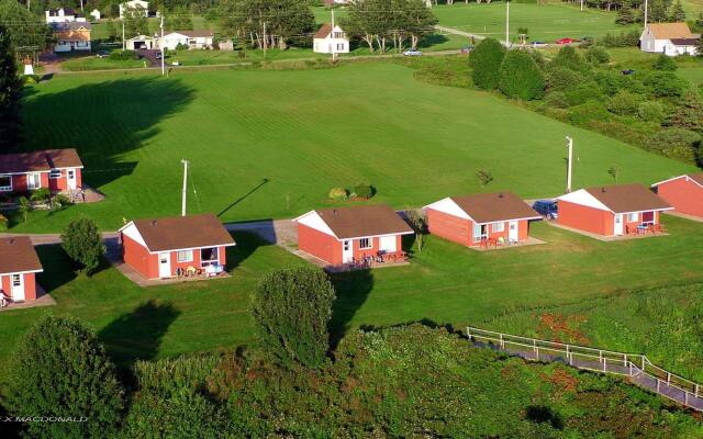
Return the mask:
[(89, 218), (78, 218), (68, 223), (62, 234), (62, 247), (88, 274), (98, 268), (100, 258), (105, 254), (105, 245), (98, 226)]

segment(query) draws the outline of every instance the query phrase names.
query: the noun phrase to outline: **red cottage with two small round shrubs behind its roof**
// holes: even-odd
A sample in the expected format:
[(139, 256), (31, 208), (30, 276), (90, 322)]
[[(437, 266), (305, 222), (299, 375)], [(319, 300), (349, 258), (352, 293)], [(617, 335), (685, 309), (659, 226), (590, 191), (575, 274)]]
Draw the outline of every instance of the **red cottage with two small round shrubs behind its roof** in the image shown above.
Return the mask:
[(402, 235), (410, 226), (387, 205), (321, 209), (293, 219), (298, 248), (330, 264), (366, 257), (402, 255)]

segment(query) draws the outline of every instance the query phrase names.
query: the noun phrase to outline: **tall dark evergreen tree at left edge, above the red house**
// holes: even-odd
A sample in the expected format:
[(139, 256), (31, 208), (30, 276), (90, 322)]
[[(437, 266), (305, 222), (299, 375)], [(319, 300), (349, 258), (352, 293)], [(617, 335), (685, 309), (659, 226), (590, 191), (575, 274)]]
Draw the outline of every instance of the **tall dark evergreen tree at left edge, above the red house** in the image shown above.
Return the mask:
[(0, 24), (0, 153), (13, 147), (20, 131), (22, 79), (8, 29)]

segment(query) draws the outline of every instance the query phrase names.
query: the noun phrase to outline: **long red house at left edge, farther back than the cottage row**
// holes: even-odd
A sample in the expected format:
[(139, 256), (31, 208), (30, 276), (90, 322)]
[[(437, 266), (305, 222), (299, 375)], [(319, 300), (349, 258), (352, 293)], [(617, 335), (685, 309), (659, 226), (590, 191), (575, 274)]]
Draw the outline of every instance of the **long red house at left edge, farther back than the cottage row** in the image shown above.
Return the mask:
[(68, 192), (82, 188), (83, 164), (76, 149), (46, 149), (0, 155), (0, 193), (47, 188)]

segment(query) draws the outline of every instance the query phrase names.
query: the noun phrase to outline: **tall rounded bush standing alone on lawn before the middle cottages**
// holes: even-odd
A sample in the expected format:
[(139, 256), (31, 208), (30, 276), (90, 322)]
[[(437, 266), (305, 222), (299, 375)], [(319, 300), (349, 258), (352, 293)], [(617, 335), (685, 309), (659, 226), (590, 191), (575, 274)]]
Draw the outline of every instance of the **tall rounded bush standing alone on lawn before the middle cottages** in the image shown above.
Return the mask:
[(330, 349), (334, 299), (334, 288), (320, 269), (291, 268), (264, 277), (252, 296), (264, 349), (286, 365), (322, 367)]

